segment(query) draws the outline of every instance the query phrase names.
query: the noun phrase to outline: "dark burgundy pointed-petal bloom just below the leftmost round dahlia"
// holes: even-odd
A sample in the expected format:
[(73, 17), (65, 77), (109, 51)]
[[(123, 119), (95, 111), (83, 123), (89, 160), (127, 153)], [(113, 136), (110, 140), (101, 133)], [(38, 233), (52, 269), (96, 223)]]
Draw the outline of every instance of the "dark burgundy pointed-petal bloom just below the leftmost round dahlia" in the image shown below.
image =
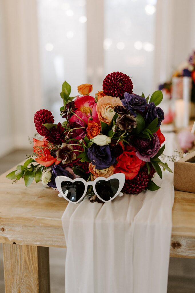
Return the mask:
[(46, 139), (51, 142), (52, 144), (62, 144), (65, 142), (65, 129), (61, 126), (61, 123), (59, 122), (56, 127), (53, 127), (50, 129), (48, 133), (45, 134)]

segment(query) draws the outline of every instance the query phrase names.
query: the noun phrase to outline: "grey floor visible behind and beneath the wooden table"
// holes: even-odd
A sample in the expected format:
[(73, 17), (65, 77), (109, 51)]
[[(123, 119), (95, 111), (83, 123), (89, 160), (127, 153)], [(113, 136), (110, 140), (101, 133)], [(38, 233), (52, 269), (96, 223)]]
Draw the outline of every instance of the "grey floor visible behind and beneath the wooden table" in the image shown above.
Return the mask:
[[(1, 158), (0, 174), (23, 161), (29, 153), (29, 150), (18, 150)], [(65, 257), (66, 249), (49, 248), (51, 293), (65, 292)], [(3, 252), (0, 244), (0, 293), (4, 292)], [(167, 293), (195, 293), (195, 259), (170, 258)]]

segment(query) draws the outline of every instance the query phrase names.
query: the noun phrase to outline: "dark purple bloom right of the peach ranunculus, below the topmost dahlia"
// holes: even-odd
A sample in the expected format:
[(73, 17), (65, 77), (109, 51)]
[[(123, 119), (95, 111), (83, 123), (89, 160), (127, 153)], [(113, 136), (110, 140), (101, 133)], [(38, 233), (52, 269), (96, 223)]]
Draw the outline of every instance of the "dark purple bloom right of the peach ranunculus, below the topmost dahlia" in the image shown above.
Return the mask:
[(148, 105), (145, 98), (129, 93), (124, 93), (124, 99), (122, 99), (122, 104), (134, 116), (137, 116), (134, 111), (144, 112)]

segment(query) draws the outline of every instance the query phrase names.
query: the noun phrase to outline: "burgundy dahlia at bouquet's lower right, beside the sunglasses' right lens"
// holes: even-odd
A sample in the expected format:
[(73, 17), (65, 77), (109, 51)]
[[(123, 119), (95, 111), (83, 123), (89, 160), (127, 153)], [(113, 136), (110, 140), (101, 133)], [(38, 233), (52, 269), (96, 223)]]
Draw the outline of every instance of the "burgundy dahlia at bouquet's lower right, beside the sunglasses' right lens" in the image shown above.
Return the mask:
[(128, 194), (138, 194), (147, 189), (149, 180), (148, 170), (141, 168), (133, 179), (125, 180), (123, 191)]

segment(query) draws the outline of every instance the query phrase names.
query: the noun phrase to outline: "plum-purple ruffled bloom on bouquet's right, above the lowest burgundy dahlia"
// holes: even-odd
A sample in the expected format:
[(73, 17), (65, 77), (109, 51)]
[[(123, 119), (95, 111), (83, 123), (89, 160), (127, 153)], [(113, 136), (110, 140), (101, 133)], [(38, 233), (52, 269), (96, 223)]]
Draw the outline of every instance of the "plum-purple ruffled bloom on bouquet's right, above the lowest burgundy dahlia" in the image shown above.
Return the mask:
[(150, 158), (153, 158), (160, 149), (158, 135), (154, 133), (153, 136), (151, 140), (148, 138), (141, 139), (140, 137), (129, 140), (129, 143), (137, 150), (136, 156), (142, 161), (150, 162)]

